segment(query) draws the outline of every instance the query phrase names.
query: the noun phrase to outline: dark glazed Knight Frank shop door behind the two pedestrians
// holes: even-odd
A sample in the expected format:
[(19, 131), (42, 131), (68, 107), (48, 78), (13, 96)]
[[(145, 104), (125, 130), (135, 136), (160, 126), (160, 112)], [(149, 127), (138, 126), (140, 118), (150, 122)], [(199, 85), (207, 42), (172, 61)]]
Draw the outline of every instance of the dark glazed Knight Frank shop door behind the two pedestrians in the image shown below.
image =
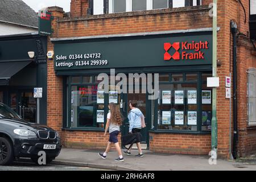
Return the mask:
[[(137, 107), (140, 109), (145, 117), (145, 123), (148, 125), (150, 121), (148, 120), (149, 118), (147, 117), (148, 111), (151, 111), (151, 109), (147, 109), (147, 107), (150, 107), (147, 104), (147, 94), (146, 93), (127, 93), (127, 94), (122, 94), (123, 96), (123, 108), (121, 109), (123, 112), (123, 115), (125, 116), (125, 120), (123, 121), (123, 127), (122, 127), (122, 135), (127, 135), (129, 133), (129, 119), (127, 118), (127, 115), (129, 111), (131, 110), (129, 107), (129, 102), (130, 101), (136, 101), (137, 102)], [(144, 127), (141, 130), (142, 134), (142, 144), (143, 148), (148, 148), (148, 127)]]

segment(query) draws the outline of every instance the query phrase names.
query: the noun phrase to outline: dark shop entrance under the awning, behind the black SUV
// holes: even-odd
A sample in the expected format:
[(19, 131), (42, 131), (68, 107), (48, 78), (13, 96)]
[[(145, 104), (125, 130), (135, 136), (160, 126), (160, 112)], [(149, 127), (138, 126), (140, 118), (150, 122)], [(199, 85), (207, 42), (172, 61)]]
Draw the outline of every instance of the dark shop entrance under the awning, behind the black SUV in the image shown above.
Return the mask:
[(36, 99), (32, 91), (10, 93), (10, 107), (25, 121), (36, 122)]

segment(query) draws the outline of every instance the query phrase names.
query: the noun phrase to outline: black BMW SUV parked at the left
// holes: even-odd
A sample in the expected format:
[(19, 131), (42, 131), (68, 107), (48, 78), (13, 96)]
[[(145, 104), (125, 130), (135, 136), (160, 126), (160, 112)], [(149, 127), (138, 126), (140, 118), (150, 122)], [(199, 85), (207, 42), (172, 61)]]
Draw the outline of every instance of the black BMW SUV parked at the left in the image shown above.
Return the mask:
[(60, 150), (60, 137), (55, 130), (24, 121), (0, 102), (0, 165), (19, 158), (31, 158), (38, 163), (40, 151), (46, 152), (46, 162), (51, 163)]

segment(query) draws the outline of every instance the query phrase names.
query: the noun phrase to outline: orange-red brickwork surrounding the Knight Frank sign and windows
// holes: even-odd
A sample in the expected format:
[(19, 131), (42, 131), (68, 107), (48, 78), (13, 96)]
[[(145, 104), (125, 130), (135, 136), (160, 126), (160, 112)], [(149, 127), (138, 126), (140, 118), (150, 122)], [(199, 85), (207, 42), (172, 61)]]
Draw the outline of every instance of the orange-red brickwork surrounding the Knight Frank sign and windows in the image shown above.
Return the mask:
[[(192, 28), (212, 27), (212, 18), (208, 15), (208, 4), (212, 1), (203, 1), (201, 7), (182, 7), (177, 9), (137, 11), (129, 13), (117, 13), (106, 15), (86, 15), (88, 1), (73, 0), (71, 2), (71, 18), (61, 18), (60, 11), (54, 13), (59, 17), (53, 21), (55, 33), (53, 38), (94, 36), (94, 35), (111, 35), (127, 34), (137, 32), (154, 32), (154, 31), (171, 31), (187, 30)], [(244, 4), (247, 2), (242, 1)], [(248, 3), (247, 3), (248, 4)], [(245, 5), (248, 8), (247, 4)], [(225, 76), (229, 76), (232, 63), (230, 64), (230, 19), (236, 19), (241, 32), (246, 32), (247, 24), (242, 25), (243, 13), (240, 4), (235, 0), (218, 1), (218, 43), (217, 59), (222, 61), (222, 65), (217, 68), (217, 74), (220, 77), (220, 87), (217, 89), (217, 123), (218, 123), (218, 156), (228, 158), (229, 156), (229, 101), (225, 98)], [(239, 13), (237, 13), (239, 12)], [(247, 40), (245, 40), (246, 42)], [(232, 46), (232, 45), (231, 45)], [(48, 49), (53, 49), (52, 44), (48, 43)], [(238, 48), (238, 62), (247, 62), (245, 48)], [(251, 57), (250, 53), (247, 57)], [(253, 57), (254, 59), (255, 57)], [(249, 58), (248, 58), (249, 59)], [(255, 65), (255, 61), (251, 61)], [(242, 64), (241, 64), (242, 65)], [(240, 91), (238, 100), (241, 107), (238, 109), (238, 118), (240, 130), (246, 130), (244, 100), (246, 100), (246, 87), (244, 78), (246, 77), (245, 69), (249, 65), (238, 67), (241, 73)], [(53, 71), (53, 62), (48, 61), (48, 125), (54, 129), (61, 130), (62, 126), (62, 78), (56, 77)], [(243, 102), (242, 102), (243, 101)], [(239, 104), (238, 104), (239, 105)], [(233, 115), (233, 114), (232, 114)], [(105, 142), (108, 137), (102, 138), (101, 132), (89, 131), (63, 131), (63, 140), (66, 146), (72, 147), (93, 147), (105, 148)], [(175, 152), (183, 154), (208, 154), (210, 150), (210, 135), (188, 135), (188, 134), (155, 134), (150, 133), (153, 140), (150, 141), (150, 149), (162, 152)], [(254, 135), (254, 130), (250, 130), (250, 135)], [(232, 134), (233, 136), (233, 134)], [(246, 153), (246, 147), (255, 142), (245, 134), (240, 136), (240, 152)], [(251, 147), (254, 148), (254, 147)]]

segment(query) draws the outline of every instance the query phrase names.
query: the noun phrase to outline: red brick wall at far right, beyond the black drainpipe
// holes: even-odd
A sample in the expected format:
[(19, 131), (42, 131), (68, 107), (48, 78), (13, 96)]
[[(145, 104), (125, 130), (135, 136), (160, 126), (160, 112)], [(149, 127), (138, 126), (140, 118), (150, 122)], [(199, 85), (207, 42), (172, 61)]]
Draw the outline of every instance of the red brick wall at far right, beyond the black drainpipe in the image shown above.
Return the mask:
[(256, 152), (256, 127), (247, 126), (247, 73), (256, 68), (256, 51), (246, 36), (238, 38), (237, 100), (238, 100), (238, 155), (244, 157)]

